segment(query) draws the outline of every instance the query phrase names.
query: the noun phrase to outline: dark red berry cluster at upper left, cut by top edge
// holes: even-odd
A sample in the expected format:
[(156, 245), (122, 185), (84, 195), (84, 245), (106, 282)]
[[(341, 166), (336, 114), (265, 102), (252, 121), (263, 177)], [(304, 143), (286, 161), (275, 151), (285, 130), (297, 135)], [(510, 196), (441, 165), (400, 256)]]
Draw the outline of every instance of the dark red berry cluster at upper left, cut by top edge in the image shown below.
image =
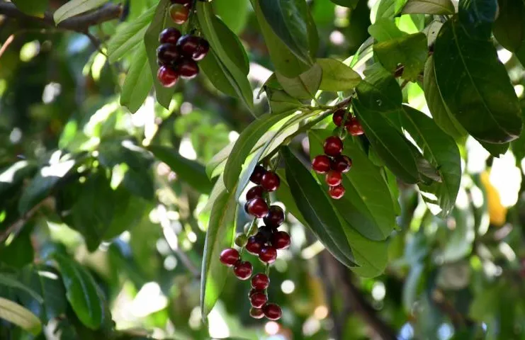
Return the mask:
[[(169, 8), (175, 23), (184, 23), (188, 19), (191, 0), (171, 0)], [(186, 11), (184, 16), (181, 11)], [(184, 20), (182, 20), (184, 18)], [(176, 28), (166, 28), (159, 35), (157, 48), (157, 78), (164, 87), (174, 86), (179, 77), (192, 79), (199, 72), (197, 62), (203, 60), (210, 50), (207, 40), (196, 35), (181, 35)]]

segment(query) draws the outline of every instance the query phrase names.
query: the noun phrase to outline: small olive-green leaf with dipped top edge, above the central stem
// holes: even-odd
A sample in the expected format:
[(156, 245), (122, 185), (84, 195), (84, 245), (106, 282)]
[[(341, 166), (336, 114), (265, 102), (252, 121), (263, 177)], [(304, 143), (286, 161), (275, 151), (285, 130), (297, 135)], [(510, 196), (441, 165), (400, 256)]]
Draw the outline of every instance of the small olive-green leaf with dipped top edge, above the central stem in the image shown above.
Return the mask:
[(322, 69), (319, 64), (314, 64), (309, 70), (295, 78), (287, 78), (276, 73), (279, 84), (290, 96), (299, 99), (312, 99), (319, 89), (322, 79)]

